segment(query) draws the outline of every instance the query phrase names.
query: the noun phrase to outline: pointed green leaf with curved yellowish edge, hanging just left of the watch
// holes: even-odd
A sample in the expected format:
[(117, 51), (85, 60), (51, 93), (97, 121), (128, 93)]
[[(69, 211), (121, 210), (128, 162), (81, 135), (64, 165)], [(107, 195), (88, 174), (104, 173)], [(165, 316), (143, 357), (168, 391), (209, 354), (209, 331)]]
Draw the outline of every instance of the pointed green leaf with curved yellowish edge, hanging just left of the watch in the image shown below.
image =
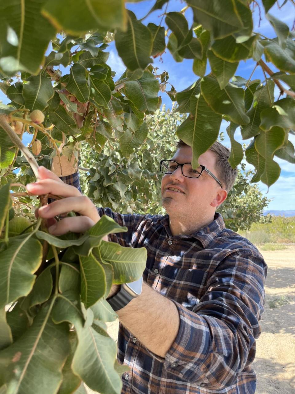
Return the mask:
[(105, 295), (105, 271), (96, 258), (79, 256), (81, 270), (81, 300), (86, 308), (94, 305)]

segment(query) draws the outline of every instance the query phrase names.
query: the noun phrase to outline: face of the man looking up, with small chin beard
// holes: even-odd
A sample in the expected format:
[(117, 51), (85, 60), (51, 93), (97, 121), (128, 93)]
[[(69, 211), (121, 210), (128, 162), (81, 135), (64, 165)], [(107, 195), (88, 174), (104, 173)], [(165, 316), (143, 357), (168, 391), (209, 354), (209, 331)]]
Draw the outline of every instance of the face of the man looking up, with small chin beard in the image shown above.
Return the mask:
[[(171, 160), (177, 163), (190, 163), (192, 161), (192, 148), (183, 146), (179, 148)], [(206, 151), (199, 157), (199, 164), (205, 165), (217, 178), (215, 169), (215, 155)], [(171, 190), (177, 189), (176, 190)], [(184, 177), (181, 167), (173, 174), (165, 174), (162, 178), (162, 205), (170, 216), (180, 217), (191, 214), (192, 218), (206, 215), (212, 211), (211, 203), (220, 190), (220, 185), (206, 171), (199, 178)], [(215, 208), (214, 208), (215, 209)]]

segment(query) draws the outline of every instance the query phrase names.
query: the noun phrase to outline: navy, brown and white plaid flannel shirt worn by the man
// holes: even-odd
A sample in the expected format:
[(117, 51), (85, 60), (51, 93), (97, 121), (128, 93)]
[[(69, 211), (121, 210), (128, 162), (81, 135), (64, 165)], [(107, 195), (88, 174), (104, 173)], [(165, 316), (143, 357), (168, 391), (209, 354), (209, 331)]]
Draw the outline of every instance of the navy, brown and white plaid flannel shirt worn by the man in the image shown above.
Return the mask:
[(226, 229), (220, 214), (193, 234), (172, 236), (168, 215), (98, 212), (128, 228), (111, 234), (110, 241), (146, 247), (143, 279), (175, 303), (180, 318), (165, 358), (151, 353), (120, 323), (118, 361), (131, 368), (122, 375), (122, 393), (253, 394), (251, 363), (267, 271), (256, 247)]

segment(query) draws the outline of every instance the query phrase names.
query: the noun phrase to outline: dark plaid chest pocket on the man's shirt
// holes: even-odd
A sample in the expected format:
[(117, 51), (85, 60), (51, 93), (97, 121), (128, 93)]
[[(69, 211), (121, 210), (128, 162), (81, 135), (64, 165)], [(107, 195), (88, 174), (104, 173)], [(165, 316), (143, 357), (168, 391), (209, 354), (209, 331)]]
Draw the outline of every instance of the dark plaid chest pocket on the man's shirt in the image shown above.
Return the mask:
[(179, 269), (174, 286), (175, 301), (192, 310), (205, 292), (207, 272), (203, 269)]

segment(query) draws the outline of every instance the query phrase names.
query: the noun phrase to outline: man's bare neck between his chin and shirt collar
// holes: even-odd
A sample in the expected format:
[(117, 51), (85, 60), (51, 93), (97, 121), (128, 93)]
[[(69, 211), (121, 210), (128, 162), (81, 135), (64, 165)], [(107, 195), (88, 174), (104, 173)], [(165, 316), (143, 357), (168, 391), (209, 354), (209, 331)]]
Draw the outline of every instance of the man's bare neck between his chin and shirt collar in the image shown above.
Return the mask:
[(171, 234), (175, 235), (188, 235), (196, 232), (198, 230), (203, 229), (214, 220), (214, 215), (206, 218), (202, 218), (201, 220), (194, 220), (193, 218), (173, 218), (169, 215), (169, 227), (171, 230)]

